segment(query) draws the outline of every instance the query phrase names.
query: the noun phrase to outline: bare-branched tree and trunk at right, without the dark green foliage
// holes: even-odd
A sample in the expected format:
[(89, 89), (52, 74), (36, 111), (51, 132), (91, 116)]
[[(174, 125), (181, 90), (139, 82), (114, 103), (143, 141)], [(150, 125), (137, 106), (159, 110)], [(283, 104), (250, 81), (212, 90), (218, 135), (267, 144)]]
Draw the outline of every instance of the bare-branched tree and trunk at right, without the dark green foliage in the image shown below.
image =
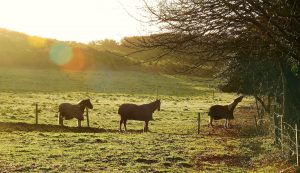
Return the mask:
[(161, 33), (130, 45), (165, 50), (181, 57), (176, 61), (192, 62), (189, 69), (206, 62), (236, 58), (237, 52), (255, 44), (253, 36), (268, 43), (268, 50), (264, 51), (275, 55), (272, 59), (282, 76), (285, 118), (300, 122), (296, 116), (300, 113), (300, 80), (291, 70), (298, 69), (300, 63), (298, 0), (157, 0), (154, 3), (144, 0), (144, 3), (151, 14), (150, 23), (160, 26)]

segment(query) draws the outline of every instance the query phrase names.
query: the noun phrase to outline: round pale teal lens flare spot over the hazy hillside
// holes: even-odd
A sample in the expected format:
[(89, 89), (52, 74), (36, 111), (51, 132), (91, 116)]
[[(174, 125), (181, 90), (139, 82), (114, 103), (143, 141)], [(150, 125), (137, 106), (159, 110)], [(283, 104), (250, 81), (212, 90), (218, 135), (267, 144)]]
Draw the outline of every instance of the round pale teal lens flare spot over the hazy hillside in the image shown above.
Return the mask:
[(49, 51), (51, 61), (57, 65), (65, 65), (72, 58), (72, 48), (65, 43), (54, 44)]

